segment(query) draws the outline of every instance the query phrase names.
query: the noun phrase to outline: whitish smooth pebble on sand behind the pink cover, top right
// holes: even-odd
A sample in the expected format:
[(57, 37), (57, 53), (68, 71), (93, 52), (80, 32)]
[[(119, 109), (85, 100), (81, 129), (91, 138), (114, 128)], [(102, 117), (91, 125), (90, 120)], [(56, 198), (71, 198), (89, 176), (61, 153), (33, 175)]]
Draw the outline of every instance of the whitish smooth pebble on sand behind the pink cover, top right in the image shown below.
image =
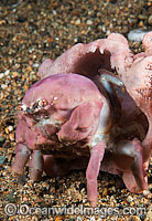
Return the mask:
[(148, 33), (148, 31), (142, 31), (140, 29), (134, 29), (134, 30), (129, 32), (128, 40), (129, 41), (141, 42), (145, 33)]

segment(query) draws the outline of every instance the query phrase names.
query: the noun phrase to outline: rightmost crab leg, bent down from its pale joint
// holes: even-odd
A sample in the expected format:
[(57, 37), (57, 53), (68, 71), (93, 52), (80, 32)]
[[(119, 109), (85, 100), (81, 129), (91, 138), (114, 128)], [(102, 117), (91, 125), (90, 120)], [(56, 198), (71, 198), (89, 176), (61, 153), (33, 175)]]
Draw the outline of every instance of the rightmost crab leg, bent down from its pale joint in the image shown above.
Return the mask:
[(141, 192), (144, 189), (148, 189), (148, 183), (145, 182), (144, 179), (144, 169), (143, 169), (143, 156), (142, 156), (142, 147), (140, 145), (140, 141), (134, 138), (132, 141), (128, 140), (121, 140), (119, 145), (112, 149), (113, 154), (116, 155), (122, 155), (122, 156), (128, 156), (132, 158), (133, 160), (131, 161), (130, 169), (131, 172), (135, 179), (137, 186), (130, 187), (128, 186), (128, 177), (126, 176), (126, 172), (122, 176), (122, 179), (128, 187), (128, 189), (132, 192)]

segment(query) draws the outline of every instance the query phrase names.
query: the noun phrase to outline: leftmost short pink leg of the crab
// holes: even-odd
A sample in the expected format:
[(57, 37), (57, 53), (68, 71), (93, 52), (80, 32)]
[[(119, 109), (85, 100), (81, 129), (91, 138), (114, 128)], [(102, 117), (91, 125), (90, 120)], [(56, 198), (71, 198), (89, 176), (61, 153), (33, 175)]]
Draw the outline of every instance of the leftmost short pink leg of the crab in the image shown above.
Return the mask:
[(12, 171), (17, 173), (24, 172), (24, 166), (30, 159), (31, 150), (22, 144), (17, 145), (17, 155), (12, 165)]

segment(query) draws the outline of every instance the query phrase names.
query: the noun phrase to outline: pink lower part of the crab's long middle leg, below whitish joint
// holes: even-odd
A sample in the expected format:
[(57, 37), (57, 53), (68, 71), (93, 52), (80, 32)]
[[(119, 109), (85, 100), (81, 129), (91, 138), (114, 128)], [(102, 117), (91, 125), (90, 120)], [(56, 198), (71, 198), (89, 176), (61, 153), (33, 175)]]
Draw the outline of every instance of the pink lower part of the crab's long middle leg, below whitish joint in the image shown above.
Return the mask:
[(100, 162), (104, 157), (106, 144), (105, 141), (96, 145), (91, 150), (91, 156), (86, 171), (87, 178), (87, 196), (90, 201), (90, 207), (96, 207), (98, 191), (97, 191), (97, 177), (100, 169)]

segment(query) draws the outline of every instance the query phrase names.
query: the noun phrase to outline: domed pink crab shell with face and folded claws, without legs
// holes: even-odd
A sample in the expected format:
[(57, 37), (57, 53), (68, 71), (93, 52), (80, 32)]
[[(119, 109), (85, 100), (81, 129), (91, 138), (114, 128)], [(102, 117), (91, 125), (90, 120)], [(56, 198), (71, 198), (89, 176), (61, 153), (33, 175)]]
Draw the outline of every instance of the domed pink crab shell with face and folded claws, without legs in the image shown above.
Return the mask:
[[(37, 106), (44, 101), (45, 106)], [(67, 141), (66, 146), (84, 139), (87, 143), (98, 128), (104, 101), (96, 85), (84, 76), (58, 74), (41, 80), (22, 101), (17, 143), (25, 144), (30, 149), (41, 149), (52, 141), (53, 146), (56, 145), (54, 151), (57, 138), (62, 143)], [(67, 124), (68, 120), (70, 124)], [(54, 134), (57, 136), (52, 140)], [(43, 149), (50, 154), (53, 151), (50, 147)], [(70, 148), (66, 154), (66, 157), (73, 156)]]

